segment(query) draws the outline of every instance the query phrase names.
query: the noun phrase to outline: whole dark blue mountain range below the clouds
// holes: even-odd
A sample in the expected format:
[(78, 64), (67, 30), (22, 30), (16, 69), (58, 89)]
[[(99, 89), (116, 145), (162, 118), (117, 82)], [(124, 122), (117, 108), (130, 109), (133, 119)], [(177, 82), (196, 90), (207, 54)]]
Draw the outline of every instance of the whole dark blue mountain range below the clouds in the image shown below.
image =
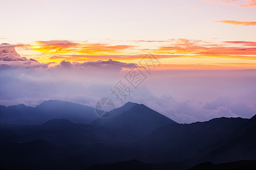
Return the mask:
[(214, 169), (256, 160), (256, 116), (178, 124), (129, 102), (99, 118), (92, 107), (49, 100), (1, 106), (0, 122), (6, 169)]

